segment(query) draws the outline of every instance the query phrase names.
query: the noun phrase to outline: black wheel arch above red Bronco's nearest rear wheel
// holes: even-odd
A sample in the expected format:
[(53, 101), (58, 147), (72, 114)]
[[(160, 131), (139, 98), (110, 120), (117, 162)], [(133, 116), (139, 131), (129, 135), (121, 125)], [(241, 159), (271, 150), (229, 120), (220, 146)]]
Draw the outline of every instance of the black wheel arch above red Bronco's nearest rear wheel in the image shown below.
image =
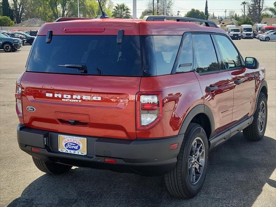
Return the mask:
[(195, 106), (185, 117), (178, 134), (184, 134), (187, 130), (189, 123), (200, 124), (207, 138), (210, 139), (215, 132), (215, 121), (211, 109), (204, 105), (199, 104)]

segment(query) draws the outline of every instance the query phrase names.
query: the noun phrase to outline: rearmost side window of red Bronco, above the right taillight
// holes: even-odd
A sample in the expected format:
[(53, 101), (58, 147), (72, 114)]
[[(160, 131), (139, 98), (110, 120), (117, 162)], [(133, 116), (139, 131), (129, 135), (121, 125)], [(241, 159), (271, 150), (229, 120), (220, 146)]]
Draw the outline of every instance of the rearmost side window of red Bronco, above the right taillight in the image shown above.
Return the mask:
[(170, 74), (178, 52), (182, 36), (154, 36), (156, 74)]

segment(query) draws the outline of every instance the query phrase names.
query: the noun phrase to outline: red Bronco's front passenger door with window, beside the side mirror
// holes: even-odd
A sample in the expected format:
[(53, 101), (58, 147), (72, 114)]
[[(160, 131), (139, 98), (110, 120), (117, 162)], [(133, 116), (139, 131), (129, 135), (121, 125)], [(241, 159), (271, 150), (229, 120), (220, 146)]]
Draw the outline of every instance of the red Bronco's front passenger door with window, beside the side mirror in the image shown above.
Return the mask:
[(224, 35), (214, 35), (224, 69), (232, 76), (234, 86), (233, 122), (248, 117), (255, 106), (255, 75), (252, 69), (243, 67), (238, 50)]

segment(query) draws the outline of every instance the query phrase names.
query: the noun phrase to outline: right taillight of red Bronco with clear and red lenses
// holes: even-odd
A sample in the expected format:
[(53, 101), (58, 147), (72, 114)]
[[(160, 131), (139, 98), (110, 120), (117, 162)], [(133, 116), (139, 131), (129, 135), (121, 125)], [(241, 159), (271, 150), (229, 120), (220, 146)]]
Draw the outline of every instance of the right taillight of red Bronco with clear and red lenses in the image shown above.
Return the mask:
[(137, 129), (148, 129), (161, 117), (161, 94), (140, 93), (137, 95)]

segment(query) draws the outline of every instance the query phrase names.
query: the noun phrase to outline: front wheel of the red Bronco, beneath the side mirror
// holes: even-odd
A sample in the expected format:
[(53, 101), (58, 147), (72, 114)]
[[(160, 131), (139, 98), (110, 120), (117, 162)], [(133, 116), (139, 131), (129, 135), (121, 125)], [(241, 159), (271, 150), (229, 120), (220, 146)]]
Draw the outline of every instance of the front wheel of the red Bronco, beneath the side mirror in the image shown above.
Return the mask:
[[(264, 106), (264, 112), (265, 115), (263, 116), (260, 114), (259, 117), (259, 112), (263, 111), (262, 106)], [(253, 122), (243, 129), (243, 136), (250, 141), (258, 141), (263, 138), (264, 133), (266, 132), (266, 123), (267, 123), (267, 100), (266, 96), (260, 92), (259, 98), (258, 98), (258, 103), (257, 103), (257, 109), (253, 115)], [(263, 124), (259, 127), (259, 123), (262, 122), (261, 119), (263, 120)]]

